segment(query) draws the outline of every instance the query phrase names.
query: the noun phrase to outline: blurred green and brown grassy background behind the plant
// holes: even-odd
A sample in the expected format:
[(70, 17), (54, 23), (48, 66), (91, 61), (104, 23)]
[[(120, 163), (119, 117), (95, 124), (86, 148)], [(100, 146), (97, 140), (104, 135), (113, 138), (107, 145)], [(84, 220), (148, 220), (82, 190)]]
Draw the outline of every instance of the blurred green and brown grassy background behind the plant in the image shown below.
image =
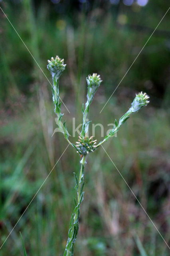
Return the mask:
[[(66, 70), (60, 96), (71, 134), (81, 123), (86, 77), (103, 80), (89, 119), (107, 124), (145, 91), (150, 104), (132, 115), (104, 148), (163, 238), (170, 240), (169, 12), (101, 114), (99, 112), (169, 7), (168, 0), (8, 0), (0, 7), (51, 82), (47, 59), (59, 55)], [(0, 244), (67, 146), (55, 133), (51, 85), (0, 10)], [(109, 126), (109, 128), (111, 128)], [(90, 127), (91, 129), (91, 127)], [(52, 136), (52, 137), (51, 137)], [(78, 136), (78, 135), (77, 135)], [(100, 127), (96, 138), (101, 140)], [(71, 138), (75, 142), (77, 138)], [(59, 256), (73, 210), (73, 172), (79, 156), (69, 146), (0, 249), (0, 256)], [(103, 148), (85, 166), (75, 256), (168, 256), (169, 249)]]

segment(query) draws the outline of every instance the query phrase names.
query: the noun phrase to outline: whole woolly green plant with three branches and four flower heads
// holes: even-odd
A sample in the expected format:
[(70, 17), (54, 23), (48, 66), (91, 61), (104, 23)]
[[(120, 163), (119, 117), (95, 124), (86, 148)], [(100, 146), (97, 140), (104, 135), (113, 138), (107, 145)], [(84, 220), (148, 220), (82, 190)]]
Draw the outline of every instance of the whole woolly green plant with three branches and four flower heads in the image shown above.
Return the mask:
[(83, 112), (83, 126), (81, 130), (81, 136), (79, 136), (78, 142), (76, 142), (76, 145), (71, 143), (68, 139), (69, 133), (67, 131), (65, 122), (61, 122), (61, 118), (63, 117), (63, 114), (61, 114), (61, 102), (59, 103), (59, 77), (61, 76), (62, 72), (65, 70), (66, 64), (64, 64), (64, 60), (60, 59), (58, 56), (55, 58), (51, 58), (51, 60), (48, 60), (48, 66), (47, 68), (50, 70), (52, 78), (53, 78), (53, 103), (55, 105), (55, 114), (57, 115), (57, 125), (60, 132), (63, 133), (64, 138), (67, 140), (67, 142), (73, 146), (77, 152), (81, 155), (81, 169), (79, 173), (79, 179), (77, 179), (76, 174), (75, 175), (75, 189), (77, 190), (77, 200), (74, 198), (74, 204), (75, 208), (73, 211), (73, 214), (71, 215), (70, 220), (70, 226), (69, 226), (69, 233), (68, 233), (68, 240), (67, 245), (65, 248), (65, 252), (63, 256), (73, 256), (73, 246), (75, 243), (75, 240), (77, 238), (78, 230), (79, 230), (79, 214), (80, 214), (80, 204), (83, 201), (83, 188), (84, 188), (84, 164), (85, 164), (85, 158), (86, 155), (90, 152), (94, 152), (101, 144), (103, 144), (105, 141), (107, 141), (109, 138), (115, 136), (115, 134), (119, 131), (122, 124), (124, 124), (128, 118), (130, 117), (131, 113), (137, 112), (142, 107), (146, 106), (149, 103), (149, 96), (144, 92), (140, 92), (136, 94), (136, 97), (134, 98), (131, 107), (129, 110), (119, 119), (119, 123), (115, 119), (115, 124), (113, 126), (113, 129), (109, 132), (108, 135), (105, 136), (104, 140), (99, 142), (99, 144), (96, 144), (96, 140), (93, 140), (93, 136), (89, 138), (88, 129), (89, 129), (89, 122), (86, 122), (87, 114), (89, 113), (89, 106), (91, 102), (93, 101), (93, 97), (97, 91), (97, 88), (100, 86), (102, 80), (100, 78), (100, 75), (97, 75), (93, 73), (93, 75), (89, 75), (87, 77), (87, 102), (82, 106), (82, 112)]

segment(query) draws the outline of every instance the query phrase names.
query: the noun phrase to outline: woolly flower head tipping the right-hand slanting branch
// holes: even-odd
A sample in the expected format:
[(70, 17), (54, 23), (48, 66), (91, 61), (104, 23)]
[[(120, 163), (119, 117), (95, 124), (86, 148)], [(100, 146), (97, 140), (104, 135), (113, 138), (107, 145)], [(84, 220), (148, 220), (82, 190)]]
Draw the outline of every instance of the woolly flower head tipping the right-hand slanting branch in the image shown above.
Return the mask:
[(136, 97), (134, 98), (131, 106), (131, 111), (136, 112), (140, 110), (140, 108), (146, 106), (149, 103), (149, 96), (146, 94), (146, 92), (139, 92), (136, 94)]

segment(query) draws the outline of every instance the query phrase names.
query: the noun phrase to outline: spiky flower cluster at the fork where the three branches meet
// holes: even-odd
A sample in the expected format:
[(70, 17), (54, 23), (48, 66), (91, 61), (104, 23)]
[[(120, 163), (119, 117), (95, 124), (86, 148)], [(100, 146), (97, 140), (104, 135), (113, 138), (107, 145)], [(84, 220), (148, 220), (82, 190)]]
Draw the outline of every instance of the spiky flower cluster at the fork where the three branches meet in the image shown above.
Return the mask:
[(76, 147), (79, 149), (77, 152), (83, 156), (93, 152), (96, 149), (96, 141), (93, 140), (93, 136), (90, 138), (87, 135), (85, 137), (79, 136), (79, 140), (76, 142)]

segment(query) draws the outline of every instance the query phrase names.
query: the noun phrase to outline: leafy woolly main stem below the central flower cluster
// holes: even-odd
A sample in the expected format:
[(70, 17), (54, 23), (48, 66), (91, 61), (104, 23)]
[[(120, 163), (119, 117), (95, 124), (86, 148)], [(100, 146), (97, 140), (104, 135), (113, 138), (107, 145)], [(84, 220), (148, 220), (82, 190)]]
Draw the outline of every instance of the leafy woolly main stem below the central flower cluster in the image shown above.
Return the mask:
[(65, 252), (63, 256), (73, 256), (73, 246), (75, 240), (77, 238), (78, 230), (79, 230), (79, 214), (80, 214), (80, 204), (83, 201), (83, 187), (84, 187), (84, 164), (85, 164), (86, 156), (83, 156), (81, 161), (81, 169), (79, 174), (79, 180), (77, 180), (77, 176), (75, 175), (76, 185), (75, 188), (77, 190), (77, 200), (74, 198), (75, 208), (73, 214), (71, 215), (69, 232), (68, 232), (68, 240), (67, 245), (65, 247)]

